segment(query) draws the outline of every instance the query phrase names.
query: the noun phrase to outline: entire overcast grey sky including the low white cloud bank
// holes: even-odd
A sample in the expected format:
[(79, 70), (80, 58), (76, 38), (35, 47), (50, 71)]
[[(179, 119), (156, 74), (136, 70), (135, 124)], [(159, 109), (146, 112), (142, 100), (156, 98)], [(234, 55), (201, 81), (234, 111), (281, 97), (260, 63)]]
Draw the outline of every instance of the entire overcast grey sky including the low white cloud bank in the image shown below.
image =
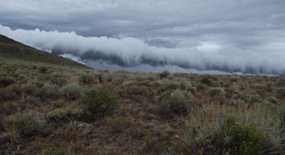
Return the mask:
[(94, 68), (285, 74), (284, 0), (0, 4), (0, 34)]

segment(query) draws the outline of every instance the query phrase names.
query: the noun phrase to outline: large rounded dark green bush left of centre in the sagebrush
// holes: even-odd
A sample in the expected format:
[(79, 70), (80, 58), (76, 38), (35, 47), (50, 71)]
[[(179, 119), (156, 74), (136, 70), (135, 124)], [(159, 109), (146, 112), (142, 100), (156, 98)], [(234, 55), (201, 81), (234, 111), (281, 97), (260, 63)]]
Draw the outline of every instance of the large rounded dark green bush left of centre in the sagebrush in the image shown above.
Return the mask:
[(92, 121), (113, 114), (118, 101), (110, 91), (105, 89), (92, 89), (86, 91), (83, 99), (81, 99), (81, 104), (86, 111), (86, 117), (88, 117), (86, 119)]

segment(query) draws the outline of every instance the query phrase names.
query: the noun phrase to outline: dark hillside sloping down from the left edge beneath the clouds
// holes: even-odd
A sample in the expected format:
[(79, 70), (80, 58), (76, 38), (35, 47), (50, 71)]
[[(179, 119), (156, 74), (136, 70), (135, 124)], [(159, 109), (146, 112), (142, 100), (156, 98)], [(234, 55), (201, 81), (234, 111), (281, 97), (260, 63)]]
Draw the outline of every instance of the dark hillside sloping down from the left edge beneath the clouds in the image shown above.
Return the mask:
[(66, 59), (61, 56), (50, 54), (46, 51), (40, 51), (31, 46), (21, 44), (18, 41), (9, 39), (6, 36), (0, 34), (0, 56), (21, 59), (26, 61), (43, 62), (48, 64), (58, 64), (62, 66), (77, 66), (83, 68), (89, 68), (84, 64), (80, 64), (71, 59)]

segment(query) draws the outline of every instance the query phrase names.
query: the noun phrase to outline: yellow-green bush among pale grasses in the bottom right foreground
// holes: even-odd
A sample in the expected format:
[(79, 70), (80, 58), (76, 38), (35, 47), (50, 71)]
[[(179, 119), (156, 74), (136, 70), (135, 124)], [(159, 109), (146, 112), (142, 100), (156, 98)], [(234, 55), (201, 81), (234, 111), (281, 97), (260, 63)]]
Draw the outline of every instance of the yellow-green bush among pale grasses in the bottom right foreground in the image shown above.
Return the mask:
[(266, 136), (253, 126), (240, 126), (236, 121), (234, 116), (226, 117), (217, 135), (214, 152), (239, 155), (263, 154)]

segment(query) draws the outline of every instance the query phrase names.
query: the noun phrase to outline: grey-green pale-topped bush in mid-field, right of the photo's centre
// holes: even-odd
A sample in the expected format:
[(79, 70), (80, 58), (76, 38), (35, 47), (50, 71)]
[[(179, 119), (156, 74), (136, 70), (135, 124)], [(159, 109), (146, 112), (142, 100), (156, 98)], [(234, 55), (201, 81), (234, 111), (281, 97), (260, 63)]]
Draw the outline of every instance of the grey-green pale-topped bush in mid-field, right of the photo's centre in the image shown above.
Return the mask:
[(166, 91), (161, 95), (159, 112), (160, 114), (182, 114), (188, 111), (190, 103), (187, 101), (183, 91)]

